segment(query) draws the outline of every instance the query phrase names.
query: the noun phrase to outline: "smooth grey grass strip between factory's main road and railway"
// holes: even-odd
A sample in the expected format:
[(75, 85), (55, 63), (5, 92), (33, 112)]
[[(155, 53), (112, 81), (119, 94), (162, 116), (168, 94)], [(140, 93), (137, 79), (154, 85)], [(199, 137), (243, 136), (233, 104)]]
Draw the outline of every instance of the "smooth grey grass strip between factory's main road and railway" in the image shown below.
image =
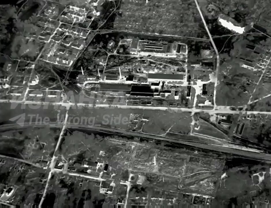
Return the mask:
[[(119, 129), (130, 129), (128, 123), (131, 115), (146, 119), (142, 131), (145, 133), (163, 134), (168, 129), (176, 133), (188, 134), (192, 122), (190, 112), (175, 113), (169, 111), (118, 109), (118, 108), (83, 108), (70, 109), (69, 116), (72, 122), (75, 117), (89, 118), (88, 125), (101, 125)], [(182, 122), (179, 120), (182, 119)], [(140, 124), (142, 120), (134, 121)], [(140, 129), (138, 129), (140, 130)]]

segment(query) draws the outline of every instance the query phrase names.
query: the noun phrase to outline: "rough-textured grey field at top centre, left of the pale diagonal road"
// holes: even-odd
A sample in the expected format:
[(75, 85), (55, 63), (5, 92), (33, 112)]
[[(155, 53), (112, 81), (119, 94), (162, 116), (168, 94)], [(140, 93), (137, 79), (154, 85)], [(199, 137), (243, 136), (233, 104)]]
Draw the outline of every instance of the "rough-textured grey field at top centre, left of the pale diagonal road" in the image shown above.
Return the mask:
[(191, 0), (129, 0), (123, 1), (121, 10), (114, 22), (116, 29), (178, 36), (195, 36), (195, 30), (206, 32), (200, 29), (202, 20)]

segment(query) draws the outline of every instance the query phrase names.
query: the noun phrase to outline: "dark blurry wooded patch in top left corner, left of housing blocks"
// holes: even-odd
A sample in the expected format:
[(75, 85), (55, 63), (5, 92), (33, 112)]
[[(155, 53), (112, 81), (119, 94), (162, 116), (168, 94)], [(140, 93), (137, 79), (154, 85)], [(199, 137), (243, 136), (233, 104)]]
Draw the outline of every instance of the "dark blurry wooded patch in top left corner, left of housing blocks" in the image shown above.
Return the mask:
[(36, 12), (41, 2), (29, 1), (22, 7), (10, 6), (1, 13), (0, 45), (1, 53), (20, 59), (25, 56), (29, 60), (37, 55), (38, 40), (28, 40), (27, 36), (39, 34), (41, 29), (35, 25)]

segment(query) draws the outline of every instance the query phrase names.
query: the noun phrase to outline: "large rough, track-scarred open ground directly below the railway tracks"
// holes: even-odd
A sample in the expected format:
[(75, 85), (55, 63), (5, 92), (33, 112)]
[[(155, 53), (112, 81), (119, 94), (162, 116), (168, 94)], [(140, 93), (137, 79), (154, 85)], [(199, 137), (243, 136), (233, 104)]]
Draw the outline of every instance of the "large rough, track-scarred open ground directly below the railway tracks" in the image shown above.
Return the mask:
[[(225, 163), (222, 157), (207, 157), (204, 154), (165, 148), (150, 142), (146, 146), (144, 142), (128, 143), (125, 142), (125, 138), (117, 136), (103, 138), (99, 135), (86, 136), (84, 133), (73, 133), (70, 142), (66, 141), (67, 136), (65, 136), (61, 145), (61, 155), (70, 159), (71, 157), (78, 159), (80, 156), (81, 160), (85, 158), (92, 163), (97, 161), (103, 164), (103, 167), (106, 163), (108, 172), (103, 172), (102, 178), (112, 178), (115, 181), (127, 181), (127, 171), (130, 170), (134, 174), (132, 181), (136, 182), (143, 176), (142, 183), (146, 187), (173, 191), (180, 189), (187, 192), (190, 190), (199, 194), (206, 194), (204, 192), (206, 189), (209, 195), (214, 195), (214, 183)], [(75, 171), (77, 170), (79, 169)], [(96, 170), (96, 165), (93, 170)], [(99, 172), (100, 170), (97, 175)], [(88, 172), (88, 174), (96, 176), (95, 173)]]

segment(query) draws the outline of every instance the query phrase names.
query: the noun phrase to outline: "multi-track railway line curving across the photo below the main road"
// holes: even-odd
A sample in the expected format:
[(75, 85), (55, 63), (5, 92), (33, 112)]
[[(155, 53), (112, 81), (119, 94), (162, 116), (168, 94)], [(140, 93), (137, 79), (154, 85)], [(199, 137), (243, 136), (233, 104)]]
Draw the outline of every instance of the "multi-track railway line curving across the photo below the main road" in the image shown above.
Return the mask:
[[(57, 122), (51, 122), (49, 123), (51, 127), (63, 127), (63, 124), (59, 124)], [(9, 130), (9, 129), (22, 129), (26, 127), (33, 126), (32, 124), (24, 124), (23, 127), (17, 125), (17, 124), (10, 124), (10, 125), (2, 125), (0, 127), (0, 130)], [(42, 127), (44, 124), (39, 124), (35, 125), (35, 127)], [(232, 154), (248, 159), (254, 159), (258, 161), (263, 161), (266, 163), (271, 162), (271, 154), (265, 154), (261, 151), (258, 150), (253, 150), (249, 148), (240, 148), (240, 147), (233, 147), (233, 146), (228, 146), (228, 145), (223, 145), (223, 144), (208, 144), (207, 142), (188, 142), (188, 141), (183, 141), (183, 140), (177, 140), (173, 138), (167, 138), (167, 137), (158, 137), (155, 135), (151, 134), (142, 134), (142, 133), (136, 133), (133, 131), (125, 131), (121, 129), (110, 129), (106, 127), (96, 127), (96, 126), (88, 126), (88, 125), (74, 125), (72, 123), (67, 123), (66, 125), (67, 128), (74, 128), (74, 129), (93, 129), (93, 130), (102, 130), (102, 131), (108, 131), (108, 132), (117, 132), (117, 133), (123, 133), (126, 135), (132, 135), (136, 137), (144, 137), (148, 139), (153, 139), (153, 140), (162, 140), (162, 141), (167, 141), (167, 142), (174, 142), (178, 144), (184, 144), (188, 146), (192, 146), (195, 148), (202, 148), (206, 150), (211, 150), (211, 151), (216, 151), (216, 152), (221, 152), (221, 153), (227, 153), (227, 154)]]

